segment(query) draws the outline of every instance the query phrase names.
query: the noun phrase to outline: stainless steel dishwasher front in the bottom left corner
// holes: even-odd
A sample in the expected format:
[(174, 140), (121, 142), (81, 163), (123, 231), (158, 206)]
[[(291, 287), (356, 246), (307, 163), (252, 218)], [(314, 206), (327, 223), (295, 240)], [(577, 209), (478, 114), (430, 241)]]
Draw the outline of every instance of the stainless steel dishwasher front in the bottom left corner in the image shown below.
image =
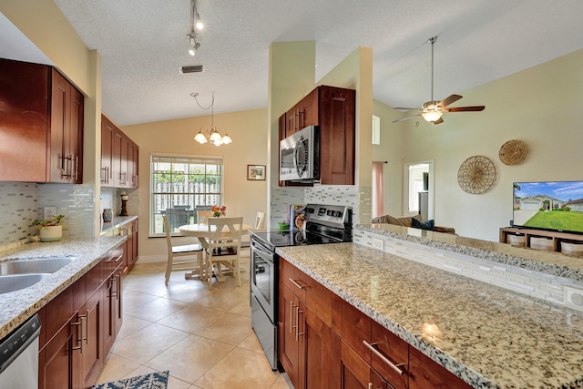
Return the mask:
[(0, 340), (0, 389), (38, 387), (40, 319), (33, 317)]

